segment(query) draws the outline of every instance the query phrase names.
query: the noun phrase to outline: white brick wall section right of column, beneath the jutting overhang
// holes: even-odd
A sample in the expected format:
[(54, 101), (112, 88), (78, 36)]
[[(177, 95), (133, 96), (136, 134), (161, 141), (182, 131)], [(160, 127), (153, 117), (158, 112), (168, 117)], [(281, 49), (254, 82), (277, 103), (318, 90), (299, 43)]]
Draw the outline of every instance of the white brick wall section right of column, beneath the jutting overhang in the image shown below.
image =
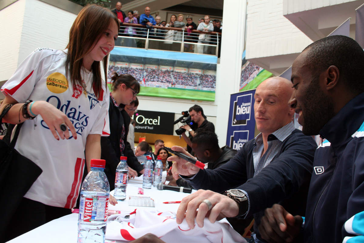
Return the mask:
[(312, 43), (283, 16), (282, 9), (283, 0), (248, 2), (246, 59), (299, 53)]

